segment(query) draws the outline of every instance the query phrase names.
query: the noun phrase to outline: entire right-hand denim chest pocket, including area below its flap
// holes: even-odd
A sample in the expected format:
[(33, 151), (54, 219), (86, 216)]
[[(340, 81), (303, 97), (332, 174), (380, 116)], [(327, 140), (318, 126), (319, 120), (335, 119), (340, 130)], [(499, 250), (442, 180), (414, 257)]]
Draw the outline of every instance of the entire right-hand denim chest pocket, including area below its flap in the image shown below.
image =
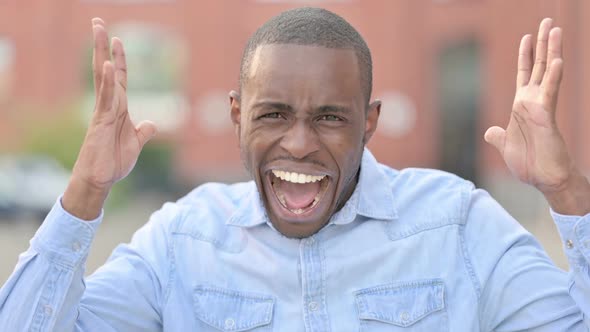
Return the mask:
[(440, 279), (382, 285), (355, 293), (361, 331), (448, 331)]

